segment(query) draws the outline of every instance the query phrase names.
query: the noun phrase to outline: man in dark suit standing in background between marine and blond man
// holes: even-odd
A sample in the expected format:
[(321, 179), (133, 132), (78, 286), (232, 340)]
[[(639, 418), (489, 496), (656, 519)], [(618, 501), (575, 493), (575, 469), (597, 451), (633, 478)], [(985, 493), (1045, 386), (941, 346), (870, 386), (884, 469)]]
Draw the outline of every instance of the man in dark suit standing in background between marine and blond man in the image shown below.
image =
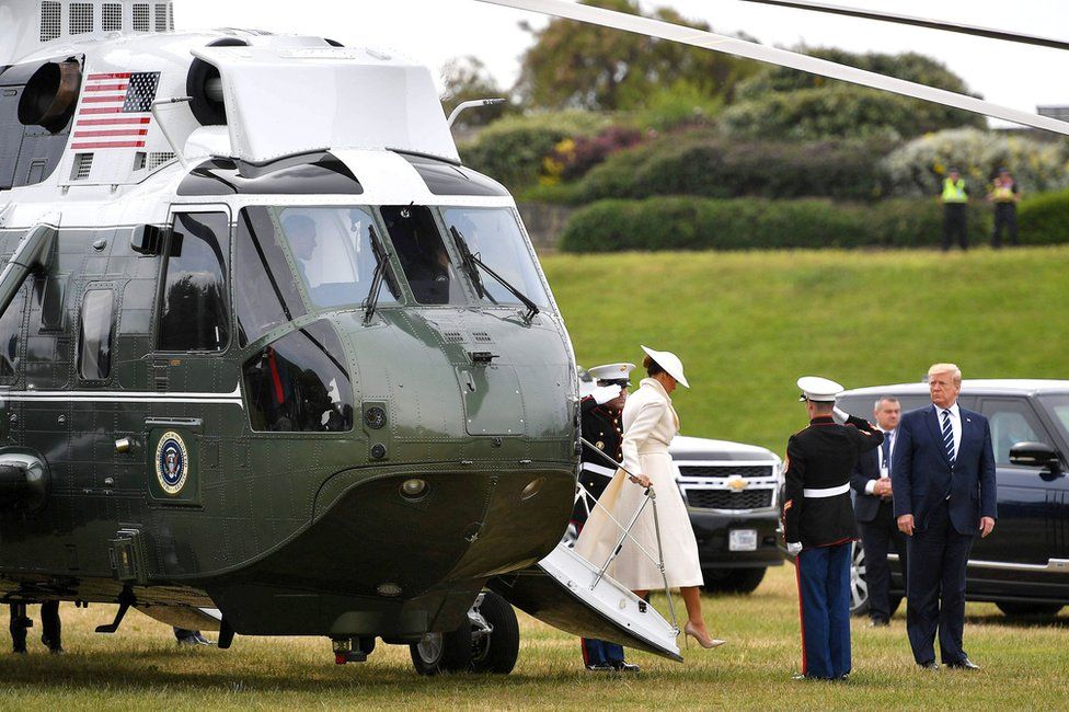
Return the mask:
[(887, 552), (894, 544), (901, 571), (906, 572), (906, 537), (895, 521), (892, 501), (890, 458), (895, 450), (895, 430), (901, 417), (901, 404), (894, 395), (876, 401), (873, 415), (884, 434), (884, 441), (875, 450), (858, 458), (850, 476), (854, 491), (853, 514), (861, 530), (865, 551), (865, 583), (869, 585), (869, 620), (871, 625), (887, 625), (890, 621), (890, 566)]

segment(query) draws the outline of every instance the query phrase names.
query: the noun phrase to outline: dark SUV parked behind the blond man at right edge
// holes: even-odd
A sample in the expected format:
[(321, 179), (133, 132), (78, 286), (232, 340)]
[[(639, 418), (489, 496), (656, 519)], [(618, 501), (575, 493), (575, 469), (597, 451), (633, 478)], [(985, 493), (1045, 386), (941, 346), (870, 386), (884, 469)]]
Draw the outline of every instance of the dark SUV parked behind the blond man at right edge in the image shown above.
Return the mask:
[[(931, 404), (927, 383), (862, 388), (839, 397), (839, 407), (871, 418), (882, 395), (903, 412)], [(1069, 605), (1069, 380), (966, 380), (962, 407), (991, 425), (998, 467), (999, 518), (969, 555), (968, 600), (995, 602), (1004, 613), (1054, 616)], [(892, 609), (904, 595), (892, 554)], [(852, 608), (867, 609), (864, 551), (854, 550)]]

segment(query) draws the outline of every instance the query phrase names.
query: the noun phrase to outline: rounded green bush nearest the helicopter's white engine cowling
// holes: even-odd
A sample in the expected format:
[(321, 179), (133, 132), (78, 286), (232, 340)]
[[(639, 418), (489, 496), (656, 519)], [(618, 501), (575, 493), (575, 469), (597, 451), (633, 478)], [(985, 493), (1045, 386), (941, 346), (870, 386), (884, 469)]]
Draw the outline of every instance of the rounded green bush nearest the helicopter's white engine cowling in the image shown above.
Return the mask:
[(511, 116), (494, 122), (474, 141), (460, 146), (464, 164), (517, 193), (538, 183), (542, 162), (565, 138), (591, 137), (610, 125), (604, 115), (561, 112)]

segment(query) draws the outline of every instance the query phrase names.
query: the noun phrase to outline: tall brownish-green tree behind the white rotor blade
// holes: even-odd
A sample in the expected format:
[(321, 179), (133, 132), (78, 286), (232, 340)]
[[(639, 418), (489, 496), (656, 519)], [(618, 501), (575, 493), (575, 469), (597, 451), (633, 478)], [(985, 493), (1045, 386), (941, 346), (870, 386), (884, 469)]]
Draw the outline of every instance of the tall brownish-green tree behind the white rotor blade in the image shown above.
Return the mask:
[[(609, 10), (642, 14), (636, 0), (584, 0)], [(651, 15), (710, 30), (675, 10)], [(736, 84), (759, 65), (722, 53), (567, 20), (532, 31), (534, 44), (522, 57), (516, 93), (527, 107), (634, 110), (659, 88), (683, 82), (708, 97), (731, 101)]]

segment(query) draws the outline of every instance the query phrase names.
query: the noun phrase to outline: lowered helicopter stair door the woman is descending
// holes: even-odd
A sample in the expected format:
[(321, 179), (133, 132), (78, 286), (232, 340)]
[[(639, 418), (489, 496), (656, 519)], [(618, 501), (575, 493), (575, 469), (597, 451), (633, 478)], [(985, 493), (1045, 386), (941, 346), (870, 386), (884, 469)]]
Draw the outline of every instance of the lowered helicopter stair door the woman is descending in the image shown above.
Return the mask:
[(529, 569), (486, 586), (513, 606), (555, 628), (682, 661), (679, 631), (657, 610), (560, 543)]

